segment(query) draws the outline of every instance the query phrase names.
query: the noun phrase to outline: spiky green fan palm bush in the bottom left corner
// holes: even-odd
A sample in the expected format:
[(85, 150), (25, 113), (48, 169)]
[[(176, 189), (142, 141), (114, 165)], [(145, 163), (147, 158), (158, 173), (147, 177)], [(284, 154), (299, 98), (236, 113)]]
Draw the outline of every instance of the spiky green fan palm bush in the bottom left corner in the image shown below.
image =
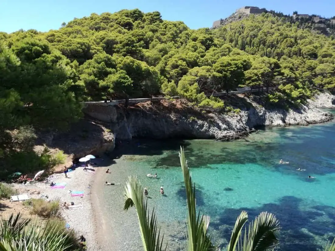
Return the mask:
[(0, 222), (1, 251), (69, 251), (76, 246), (68, 238), (68, 233), (49, 221), (45, 227), (31, 224), (30, 220), (21, 219), (18, 213), (8, 220)]

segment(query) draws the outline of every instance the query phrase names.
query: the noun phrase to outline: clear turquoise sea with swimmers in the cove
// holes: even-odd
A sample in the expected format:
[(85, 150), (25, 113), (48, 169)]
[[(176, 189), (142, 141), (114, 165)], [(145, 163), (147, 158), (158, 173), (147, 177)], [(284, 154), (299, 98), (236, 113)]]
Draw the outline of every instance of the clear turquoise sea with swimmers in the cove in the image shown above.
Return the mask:
[[(335, 237), (334, 138), (335, 123), (328, 122), (267, 128), (233, 142), (123, 142), (113, 152), (118, 158), (108, 177), (121, 185), (110, 186), (103, 194), (107, 225), (116, 236), (113, 245), (118, 250), (143, 250), (135, 210), (123, 212), (127, 175), (136, 175), (149, 190), (148, 204), (155, 207), (168, 250), (183, 250), (186, 197), (178, 157), (182, 145), (196, 183), (198, 210), (211, 217), (215, 244), (227, 245), (236, 218), (246, 210), (250, 220), (262, 211), (277, 216), (282, 227), (280, 250), (322, 248)], [(289, 164), (279, 164), (280, 159)], [(158, 179), (147, 178), (147, 173), (157, 173)], [(166, 196), (160, 195), (160, 186)]]

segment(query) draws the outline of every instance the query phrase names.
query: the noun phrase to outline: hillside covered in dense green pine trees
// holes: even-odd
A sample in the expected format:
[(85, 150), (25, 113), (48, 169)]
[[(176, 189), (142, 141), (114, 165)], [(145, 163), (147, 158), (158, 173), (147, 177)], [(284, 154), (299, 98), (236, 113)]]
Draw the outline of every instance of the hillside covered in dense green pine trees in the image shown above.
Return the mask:
[(279, 86), (263, 95), (268, 103), (303, 103), (334, 88), (335, 40), (299, 27), (267, 13), (191, 30), (135, 9), (1, 32), (0, 158), (31, 147), (22, 132), (66, 128), (79, 101), (162, 94), (222, 108), (212, 93)]

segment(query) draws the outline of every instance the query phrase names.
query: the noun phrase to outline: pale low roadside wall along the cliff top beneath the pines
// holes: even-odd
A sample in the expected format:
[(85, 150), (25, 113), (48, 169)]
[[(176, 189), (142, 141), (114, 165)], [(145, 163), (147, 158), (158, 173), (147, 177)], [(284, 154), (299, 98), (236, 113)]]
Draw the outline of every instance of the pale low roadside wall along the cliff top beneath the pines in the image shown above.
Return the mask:
[[(269, 90), (273, 90), (276, 89), (278, 86), (273, 86), (273, 87), (269, 87)], [(261, 89), (260, 89), (261, 90)], [(267, 88), (263, 88), (263, 90), (267, 90)], [(258, 92), (258, 89), (246, 89), (246, 90), (242, 90), (242, 91), (230, 91), (228, 92), (228, 94), (241, 94), (241, 93), (246, 93), (246, 92)], [(226, 96), (227, 92), (217, 92), (217, 93), (213, 93), (211, 94), (214, 97), (222, 97), (222, 96)], [(208, 95), (208, 96), (211, 96)], [(171, 97), (173, 99), (178, 99), (178, 98), (182, 98), (181, 96), (174, 96)], [(128, 104), (137, 104), (137, 103), (142, 103), (142, 102), (147, 102), (150, 100), (166, 100), (166, 98), (164, 97), (159, 97), (159, 98), (131, 98), (128, 100)], [(95, 105), (119, 105), (119, 104), (125, 104), (126, 100), (125, 99), (120, 99), (120, 100), (113, 100), (113, 101), (84, 101), (81, 102), (83, 104), (95, 104)]]

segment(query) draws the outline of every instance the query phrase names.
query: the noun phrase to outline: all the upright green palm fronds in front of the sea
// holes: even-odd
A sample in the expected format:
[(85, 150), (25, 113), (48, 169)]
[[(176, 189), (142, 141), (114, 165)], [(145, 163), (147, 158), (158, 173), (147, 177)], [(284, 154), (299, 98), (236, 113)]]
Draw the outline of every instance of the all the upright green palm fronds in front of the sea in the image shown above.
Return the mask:
[[(196, 212), (195, 185), (192, 183), (191, 173), (182, 147), (179, 152), (179, 159), (184, 176), (188, 209), (187, 249), (188, 251), (217, 250), (218, 247), (212, 244), (208, 235), (210, 217), (206, 215), (200, 216), (200, 213)], [(155, 211), (153, 209), (152, 213), (149, 213), (147, 198), (143, 197), (143, 189), (136, 177), (128, 177), (125, 193), (124, 210), (135, 206), (144, 250), (163, 250), (163, 237), (160, 237)], [(243, 227), (247, 221), (248, 213), (242, 211), (231, 233), (227, 251), (265, 251), (274, 248), (278, 244), (276, 234), (280, 230), (280, 225), (273, 214), (262, 212), (249, 224), (249, 227), (245, 228), (242, 235)]]

